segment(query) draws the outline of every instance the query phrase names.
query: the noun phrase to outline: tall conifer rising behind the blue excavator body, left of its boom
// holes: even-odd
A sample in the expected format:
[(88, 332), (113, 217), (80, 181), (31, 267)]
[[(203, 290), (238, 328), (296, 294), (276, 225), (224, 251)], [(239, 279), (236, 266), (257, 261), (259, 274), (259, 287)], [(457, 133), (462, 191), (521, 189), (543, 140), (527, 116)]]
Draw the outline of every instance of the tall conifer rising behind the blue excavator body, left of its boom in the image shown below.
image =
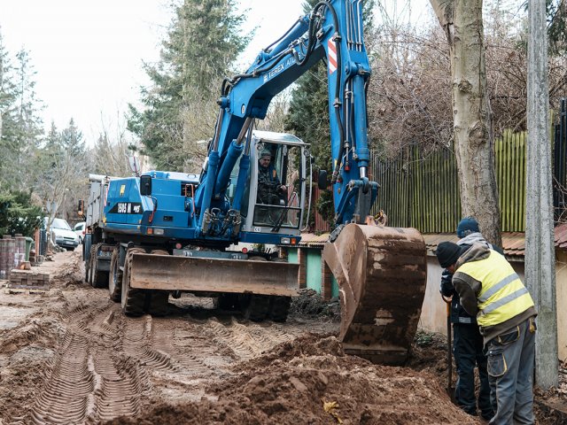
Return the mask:
[[(129, 105), (128, 130), (140, 137), (142, 153), (157, 168), (183, 171), (190, 155), (185, 149), (189, 127), (213, 127), (208, 122), (188, 125), (184, 117), (195, 104), (214, 107), (218, 92), (212, 96), (213, 81), (229, 73), (247, 43), (240, 35), (244, 19), (232, 0), (184, 0), (175, 8), (161, 59), (144, 66), (151, 79), (151, 87), (141, 89), (144, 108)], [(214, 120), (214, 115), (200, 115)]]

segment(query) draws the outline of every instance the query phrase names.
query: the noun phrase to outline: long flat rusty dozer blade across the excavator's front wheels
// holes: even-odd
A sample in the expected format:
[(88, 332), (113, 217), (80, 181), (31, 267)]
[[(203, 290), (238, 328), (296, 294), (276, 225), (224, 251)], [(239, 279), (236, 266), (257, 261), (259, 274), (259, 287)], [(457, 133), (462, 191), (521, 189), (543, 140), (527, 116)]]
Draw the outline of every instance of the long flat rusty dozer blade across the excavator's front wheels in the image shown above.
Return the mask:
[(299, 265), (135, 253), (129, 285), (142, 290), (297, 295)]

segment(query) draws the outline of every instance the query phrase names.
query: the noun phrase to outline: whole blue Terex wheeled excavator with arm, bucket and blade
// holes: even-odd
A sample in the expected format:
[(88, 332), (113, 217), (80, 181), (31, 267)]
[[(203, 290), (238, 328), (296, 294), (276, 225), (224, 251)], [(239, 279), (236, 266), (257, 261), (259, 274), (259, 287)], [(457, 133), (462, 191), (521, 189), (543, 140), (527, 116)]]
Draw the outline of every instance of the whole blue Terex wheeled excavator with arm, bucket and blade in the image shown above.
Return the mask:
[[(85, 217), (86, 280), (108, 284), (124, 313), (164, 313), (183, 292), (214, 297), (253, 321), (285, 321), (297, 295), (297, 264), (240, 246), (294, 247), (311, 187), (309, 145), (255, 129), (283, 89), (323, 60), (328, 69), (330, 188), (335, 230), (323, 258), (337, 279), (346, 352), (400, 364), (416, 333), (426, 280), (423, 237), (388, 228), (370, 210), (366, 92), (370, 66), (362, 2), (330, 0), (261, 50), (221, 85), (214, 135), (200, 174), (151, 171), (91, 175)], [(308, 204), (308, 203), (307, 203)]]

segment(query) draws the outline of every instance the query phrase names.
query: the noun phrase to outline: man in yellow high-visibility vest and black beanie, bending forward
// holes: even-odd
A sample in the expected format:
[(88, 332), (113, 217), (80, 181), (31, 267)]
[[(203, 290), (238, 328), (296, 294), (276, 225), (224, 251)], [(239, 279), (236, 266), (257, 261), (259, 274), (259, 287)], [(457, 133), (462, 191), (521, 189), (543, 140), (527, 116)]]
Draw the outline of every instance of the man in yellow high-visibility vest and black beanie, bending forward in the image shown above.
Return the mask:
[(535, 316), (532, 297), (509, 262), (485, 244), (439, 243), (462, 307), (477, 316), (488, 357), (491, 425), (532, 424)]

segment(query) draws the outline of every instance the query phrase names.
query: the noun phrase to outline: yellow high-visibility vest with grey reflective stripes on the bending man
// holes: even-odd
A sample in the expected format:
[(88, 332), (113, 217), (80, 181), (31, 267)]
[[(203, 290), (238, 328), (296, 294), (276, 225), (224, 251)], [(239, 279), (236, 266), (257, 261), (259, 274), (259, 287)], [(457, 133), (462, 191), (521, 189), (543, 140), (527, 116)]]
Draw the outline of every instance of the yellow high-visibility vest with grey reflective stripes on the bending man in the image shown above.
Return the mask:
[(482, 284), (477, 295), (479, 326), (488, 327), (508, 321), (533, 306), (524, 283), (509, 262), (496, 251), (491, 250), (486, 259), (463, 264), (456, 270), (455, 276), (458, 273), (468, 274)]

